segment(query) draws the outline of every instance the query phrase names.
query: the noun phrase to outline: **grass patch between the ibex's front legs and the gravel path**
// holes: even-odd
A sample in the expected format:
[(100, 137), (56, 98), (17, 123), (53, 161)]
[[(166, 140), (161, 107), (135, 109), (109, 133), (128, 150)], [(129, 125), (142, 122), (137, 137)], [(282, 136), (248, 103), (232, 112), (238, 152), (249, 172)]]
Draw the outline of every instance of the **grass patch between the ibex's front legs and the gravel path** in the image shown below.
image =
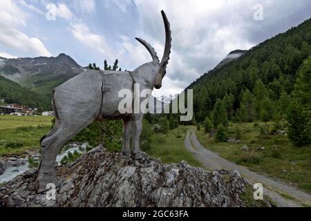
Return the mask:
[(194, 156), (185, 149), (184, 140), (188, 129), (189, 127), (187, 126), (179, 126), (173, 131), (169, 131), (167, 134), (154, 134), (151, 137), (151, 148), (147, 153), (152, 157), (160, 158), (164, 163), (179, 163), (185, 160), (191, 166), (202, 166)]

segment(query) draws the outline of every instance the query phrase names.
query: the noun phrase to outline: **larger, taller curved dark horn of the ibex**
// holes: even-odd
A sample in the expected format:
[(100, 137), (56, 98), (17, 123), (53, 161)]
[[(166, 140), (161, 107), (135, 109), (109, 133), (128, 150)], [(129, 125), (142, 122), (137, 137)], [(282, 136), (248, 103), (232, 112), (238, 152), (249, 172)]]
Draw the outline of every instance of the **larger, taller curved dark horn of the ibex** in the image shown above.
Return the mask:
[(167, 68), (167, 64), (169, 64), (169, 55), (171, 54), (171, 26), (169, 24), (169, 20), (167, 19), (167, 15), (165, 15), (165, 12), (163, 10), (161, 11), (161, 14), (165, 27), (165, 48), (160, 68), (162, 69), (162, 77), (164, 77), (166, 73), (165, 69)]

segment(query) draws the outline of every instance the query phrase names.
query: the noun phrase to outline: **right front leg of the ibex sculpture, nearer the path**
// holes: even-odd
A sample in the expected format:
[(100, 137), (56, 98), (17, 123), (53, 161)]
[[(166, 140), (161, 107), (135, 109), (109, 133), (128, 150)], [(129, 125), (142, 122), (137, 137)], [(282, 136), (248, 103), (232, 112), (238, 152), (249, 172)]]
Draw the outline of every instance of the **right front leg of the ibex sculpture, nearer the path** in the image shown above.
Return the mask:
[(135, 160), (142, 158), (142, 152), (140, 151), (140, 134), (142, 133), (142, 119), (143, 114), (134, 115), (132, 124), (132, 139), (133, 139), (133, 151), (132, 155)]

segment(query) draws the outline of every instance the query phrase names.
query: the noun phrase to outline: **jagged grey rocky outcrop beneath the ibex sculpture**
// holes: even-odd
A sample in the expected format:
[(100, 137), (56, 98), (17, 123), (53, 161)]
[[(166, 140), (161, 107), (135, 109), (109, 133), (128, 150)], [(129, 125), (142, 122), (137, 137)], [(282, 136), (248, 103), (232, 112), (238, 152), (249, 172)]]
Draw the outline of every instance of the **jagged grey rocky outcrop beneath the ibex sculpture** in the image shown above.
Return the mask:
[(36, 193), (36, 176), (26, 171), (0, 186), (0, 206), (246, 206), (250, 188), (237, 171), (133, 160), (102, 147), (57, 168), (56, 200)]

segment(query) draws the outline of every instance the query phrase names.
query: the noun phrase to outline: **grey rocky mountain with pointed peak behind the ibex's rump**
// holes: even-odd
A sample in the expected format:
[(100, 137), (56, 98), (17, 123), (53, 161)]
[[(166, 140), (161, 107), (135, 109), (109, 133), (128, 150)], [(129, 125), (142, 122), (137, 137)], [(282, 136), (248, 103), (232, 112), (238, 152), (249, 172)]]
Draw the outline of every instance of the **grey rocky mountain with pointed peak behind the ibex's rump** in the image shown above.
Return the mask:
[(83, 71), (82, 66), (65, 54), (57, 57), (0, 58), (0, 75), (41, 94), (50, 94), (55, 86)]

